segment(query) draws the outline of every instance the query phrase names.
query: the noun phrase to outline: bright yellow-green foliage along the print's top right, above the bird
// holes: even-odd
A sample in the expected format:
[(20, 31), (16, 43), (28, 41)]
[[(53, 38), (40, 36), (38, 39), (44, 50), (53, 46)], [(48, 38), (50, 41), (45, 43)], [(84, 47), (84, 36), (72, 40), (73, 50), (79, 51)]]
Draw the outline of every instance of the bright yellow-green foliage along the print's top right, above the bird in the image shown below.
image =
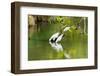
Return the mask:
[(50, 24), (59, 24), (60, 28), (62, 28), (63, 26), (70, 26), (72, 29), (76, 29), (77, 26), (80, 26), (80, 33), (83, 32), (84, 34), (87, 34), (86, 17), (50, 16), (48, 22)]

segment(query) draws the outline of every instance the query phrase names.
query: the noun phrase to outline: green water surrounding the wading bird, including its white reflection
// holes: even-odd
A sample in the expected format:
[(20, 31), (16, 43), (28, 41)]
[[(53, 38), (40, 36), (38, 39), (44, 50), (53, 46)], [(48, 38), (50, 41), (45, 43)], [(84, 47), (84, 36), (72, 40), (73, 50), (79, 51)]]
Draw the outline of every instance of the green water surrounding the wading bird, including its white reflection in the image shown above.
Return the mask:
[[(62, 41), (50, 44), (49, 38), (60, 30), (59, 24), (39, 24), (39, 31), (28, 40), (28, 60), (79, 59), (88, 57), (87, 34), (67, 31)], [(54, 47), (52, 47), (52, 45)], [(57, 49), (58, 47), (58, 49)]]

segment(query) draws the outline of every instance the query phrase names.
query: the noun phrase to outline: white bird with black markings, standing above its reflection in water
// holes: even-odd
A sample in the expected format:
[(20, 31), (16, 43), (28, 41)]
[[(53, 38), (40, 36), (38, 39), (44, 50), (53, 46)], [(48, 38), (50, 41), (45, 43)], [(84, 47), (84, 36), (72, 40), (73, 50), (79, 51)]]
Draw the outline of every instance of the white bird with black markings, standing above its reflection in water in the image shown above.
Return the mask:
[(60, 32), (57, 32), (55, 34), (53, 34), (49, 41), (50, 42), (59, 42), (61, 41), (61, 39), (63, 38), (64, 36), (64, 32), (68, 31), (70, 29), (70, 27), (65, 27), (63, 30), (61, 30)]

